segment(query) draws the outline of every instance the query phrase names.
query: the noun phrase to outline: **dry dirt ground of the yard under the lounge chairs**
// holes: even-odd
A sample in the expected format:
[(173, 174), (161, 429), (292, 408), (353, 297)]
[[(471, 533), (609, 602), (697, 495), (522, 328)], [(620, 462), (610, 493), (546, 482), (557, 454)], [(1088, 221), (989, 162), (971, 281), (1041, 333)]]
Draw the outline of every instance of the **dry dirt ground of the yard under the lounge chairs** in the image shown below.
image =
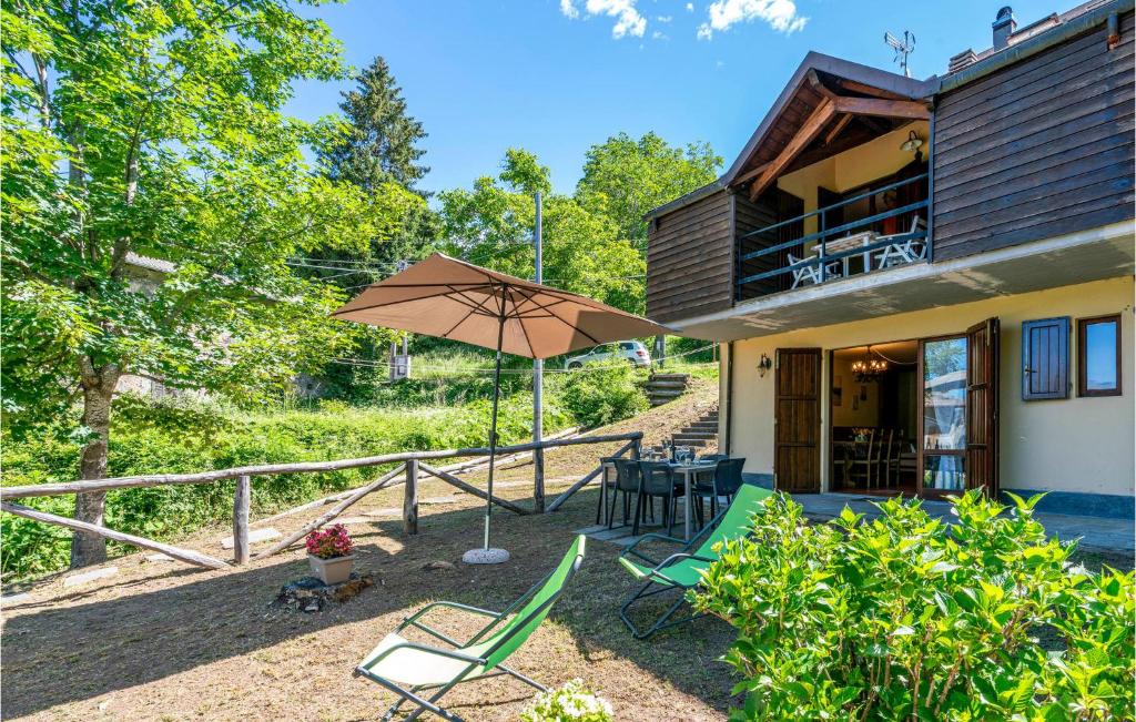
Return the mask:
[[(677, 402), (635, 420), (658, 443), (710, 410), (716, 389), (701, 383)], [(629, 430), (629, 423), (612, 430)], [(612, 447), (577, 446), (548, 455), (549, 498)], [(532, 467), (499, 477), (500, 493), (525, 504)], [(479, 481), (479, 480), (476, 480)], [(526, 484), (528, 482), (528, 484)], [(503, 608), (540, 580), (568, 547), (573, 530), (594, 522), (596, 492), (586, 489), (548, 515), (494, 514), (494, 546), (512, 560), (500, 566), (461, 564), (481, 545), (479, 499), (431, 479), (419, 496), (419, 534), (399, 517), (349, 527), (357, 569), (379, 581), (360, 596), (304, 614), (270, 607), (281, 586), (308, 573), (300, 548), (228, 571), (177, 562), (119, 557), (114, 577), (66, 587), (42, 580), (3, 610), (0, 692), (6, 719), (31, 720), (364, 720), (394, 697), (352, 679), (351, 670), (411, 611), (433, 599)], [(441, 497), (450, 497), (449, 499)], [(402, 489), (377, 493), (345, 512), (400, 509)], [(270, 523), (287, 534), (319, 510)], [(259, 528), (257, 526), (253, 527)], [(215, 556), (229, 552), (228, 529), (207, 529), (182, 544)], [(253, 552), (262, 546), (254, 546)], [(720, 720), (730, 704), (728, 669), (718, 661), (733, 638), (715, 619), (634, 640), (617, 615), (632, 588), (616, 562), (618, 547), (590, 540), (579, 576), (550, 619), (510, 664), (548, 686), (582, 678), (621, 720)], [(424, 569), (435, 562), (446, 569)], [(6, 590), (10, 594), (12, 590)], [(438, 618), (470, 630), (460, 618)], [(469, 720), (516, 720), (532, 690), (510, 678), (459, 686), (446, 696)]]

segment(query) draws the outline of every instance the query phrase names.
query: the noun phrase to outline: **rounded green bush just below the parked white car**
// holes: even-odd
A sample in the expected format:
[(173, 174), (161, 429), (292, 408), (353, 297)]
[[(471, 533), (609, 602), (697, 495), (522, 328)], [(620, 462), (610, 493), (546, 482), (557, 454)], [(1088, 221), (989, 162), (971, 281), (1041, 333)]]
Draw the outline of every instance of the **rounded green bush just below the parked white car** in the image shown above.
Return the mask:
[(594, 428), (642, 413), (650, 408), (640, 386), (643, 372), (630, 364), (583, 368), (563, 375), (559, 401), (577, 423)]

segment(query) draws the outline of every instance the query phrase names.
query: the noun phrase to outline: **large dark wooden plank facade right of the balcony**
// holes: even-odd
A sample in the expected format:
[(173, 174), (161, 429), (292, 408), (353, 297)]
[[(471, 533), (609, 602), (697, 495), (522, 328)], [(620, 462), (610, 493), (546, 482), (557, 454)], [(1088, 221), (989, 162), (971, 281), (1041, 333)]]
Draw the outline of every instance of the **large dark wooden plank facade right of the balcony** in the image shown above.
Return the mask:
[(946, 260), (1133, 213), (1133, 14), (938, 99), (934, 249)]

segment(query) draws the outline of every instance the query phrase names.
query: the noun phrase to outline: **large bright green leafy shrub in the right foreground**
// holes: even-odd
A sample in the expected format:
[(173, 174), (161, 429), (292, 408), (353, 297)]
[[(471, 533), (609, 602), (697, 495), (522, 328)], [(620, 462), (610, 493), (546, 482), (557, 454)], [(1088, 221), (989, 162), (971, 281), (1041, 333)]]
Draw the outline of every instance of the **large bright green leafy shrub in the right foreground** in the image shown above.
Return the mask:
[(810, 524), (770, 499), (695, 597), (737, 629), (734, 719), (1131, 720), (1133, 573), (1070, 565), (1037, 498), (968, 493), (953, 526), (897, 499)]

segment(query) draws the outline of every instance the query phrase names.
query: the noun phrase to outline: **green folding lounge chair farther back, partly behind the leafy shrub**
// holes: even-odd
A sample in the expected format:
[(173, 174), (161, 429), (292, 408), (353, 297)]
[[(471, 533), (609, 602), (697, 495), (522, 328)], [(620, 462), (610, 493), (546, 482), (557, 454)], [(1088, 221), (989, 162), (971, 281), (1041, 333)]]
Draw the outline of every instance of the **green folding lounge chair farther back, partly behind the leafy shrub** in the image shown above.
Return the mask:
[[(686, 601), (686, 593), (702, 581), (701, 571), (717, 560), (718, 555), (713, 551), (713, 545), (724, 539), (745, 535), (750, 527), (750, 518), (761, 511), (766, 499), (770, 496), (772, 496), (772, 492), (769, 489), (743, 484), (730, 505), (694, 535), (690, 542), (684, 543), (682, 539), (661, 534), (645, 534), (635, 544), (624, 549), (623, 554), (619, 555), (619, 563), (635, 579), (643, 582), (635, 588), (627, 602), (619, 608), (619, 618), (624, 620), (636, 639), (644, 639), (660, 629), (683, 624), (701, 616), (701, 614), (692, 614), (683, 619), (670, 619)], [(683, 547), (661, 562), (657, 562), (636, 549), (640, 544), (648, 539), (675, 542), (682, 544)], [(678, 599), (654, 623), (641, 631), (630, 620), (632, 605), (640, 599), (674, 590), (679, 591)]]

